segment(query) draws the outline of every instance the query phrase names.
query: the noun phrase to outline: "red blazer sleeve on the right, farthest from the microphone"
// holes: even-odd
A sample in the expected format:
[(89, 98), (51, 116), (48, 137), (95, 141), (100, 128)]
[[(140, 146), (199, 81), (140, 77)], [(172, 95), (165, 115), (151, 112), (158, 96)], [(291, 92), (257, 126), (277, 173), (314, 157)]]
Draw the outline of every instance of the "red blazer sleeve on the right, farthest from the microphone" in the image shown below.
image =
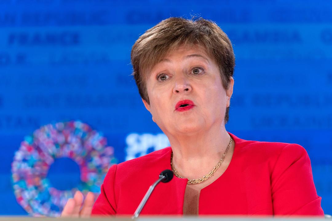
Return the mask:
[(281, 151), (271, 174), (271, 191), (275, 215), (324, 215), (309, 156), (298, 144)]

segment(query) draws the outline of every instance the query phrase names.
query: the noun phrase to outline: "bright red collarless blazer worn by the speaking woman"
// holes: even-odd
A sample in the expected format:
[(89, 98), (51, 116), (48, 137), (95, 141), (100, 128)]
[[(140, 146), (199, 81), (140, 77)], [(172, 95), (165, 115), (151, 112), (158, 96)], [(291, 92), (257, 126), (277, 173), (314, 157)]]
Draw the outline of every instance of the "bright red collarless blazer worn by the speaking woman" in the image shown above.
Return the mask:
[[(227, 170), (202, 189), (199, 215), (324, 215), (310, 159), (298, 144), (235, 141)], [(132, 215), (161, 171), (171, 169), (171, 147), (113, 165), (92, 215)], [(182, 215), (187, 179), (159, 183), (141, 215)]]

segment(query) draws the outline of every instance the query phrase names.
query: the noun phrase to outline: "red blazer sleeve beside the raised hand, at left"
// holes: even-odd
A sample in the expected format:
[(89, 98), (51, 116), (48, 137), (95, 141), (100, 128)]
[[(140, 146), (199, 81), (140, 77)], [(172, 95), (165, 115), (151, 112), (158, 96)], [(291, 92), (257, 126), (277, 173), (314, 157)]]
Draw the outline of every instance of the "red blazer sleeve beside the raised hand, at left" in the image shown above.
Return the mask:
[(114, 181), (115, 173), (117, 171), (117, 165), (111, 166), (107, 172), (104, 183), (100, 190), (101, 193), (98, 196), (95, 204), (92, 207), (92, 216), (109, 216), (117, 213), (117, 203), (115, 201)]

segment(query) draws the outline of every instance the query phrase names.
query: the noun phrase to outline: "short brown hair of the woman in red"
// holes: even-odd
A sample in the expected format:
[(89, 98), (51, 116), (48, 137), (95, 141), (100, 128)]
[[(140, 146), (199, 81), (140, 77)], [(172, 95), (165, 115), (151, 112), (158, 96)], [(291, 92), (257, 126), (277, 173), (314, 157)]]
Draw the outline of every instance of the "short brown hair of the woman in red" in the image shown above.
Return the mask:
[[(234, 74), (235, 56), (229, 38), (214, 22), (199, 19), (168, 18), (142, 34), (132, 46), (131, 64), (139, 94), (149, 104), (146, 89), (148, 72), (171, 50), (184, 46), (203, 46), (219, 66), (222, 85), (228, 88)], [(225, 113), (228, 121), (229, 107)]]

